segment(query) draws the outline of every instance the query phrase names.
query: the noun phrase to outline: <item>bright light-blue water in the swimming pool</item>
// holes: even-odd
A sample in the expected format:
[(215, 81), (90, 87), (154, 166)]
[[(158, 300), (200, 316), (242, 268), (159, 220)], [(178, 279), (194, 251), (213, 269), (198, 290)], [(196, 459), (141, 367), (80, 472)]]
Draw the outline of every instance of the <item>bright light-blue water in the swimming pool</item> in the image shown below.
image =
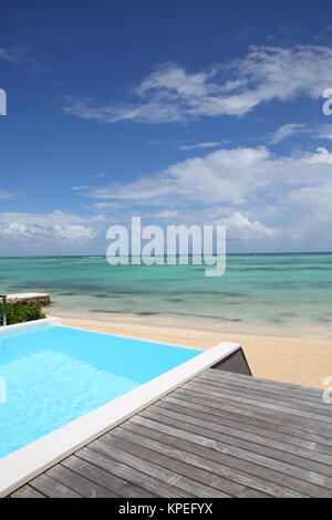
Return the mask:
[(62, 326), (1, 334), (0, 458), (198, 354)]

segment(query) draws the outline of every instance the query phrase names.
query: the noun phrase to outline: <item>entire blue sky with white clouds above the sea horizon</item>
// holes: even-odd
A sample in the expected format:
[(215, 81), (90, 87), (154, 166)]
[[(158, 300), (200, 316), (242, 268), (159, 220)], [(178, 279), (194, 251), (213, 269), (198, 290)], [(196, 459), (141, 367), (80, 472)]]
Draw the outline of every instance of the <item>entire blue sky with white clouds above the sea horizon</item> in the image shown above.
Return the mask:
[(0, 8), (0, 256), (105, 254), (133, 216), (332, 250), (330, 2)]

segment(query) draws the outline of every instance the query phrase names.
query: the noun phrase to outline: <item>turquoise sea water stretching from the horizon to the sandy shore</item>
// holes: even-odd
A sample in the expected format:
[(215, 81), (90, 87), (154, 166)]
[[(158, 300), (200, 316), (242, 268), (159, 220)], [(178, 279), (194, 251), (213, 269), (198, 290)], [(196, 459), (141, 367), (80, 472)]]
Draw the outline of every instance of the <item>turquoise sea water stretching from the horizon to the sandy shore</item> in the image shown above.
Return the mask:
[(234, 254), (204, 266), (116, 266), (105, 258), (0, 258), (0, 292), (50, 292), (54, 309), (253, 324), (332, 324), (332, 253)]

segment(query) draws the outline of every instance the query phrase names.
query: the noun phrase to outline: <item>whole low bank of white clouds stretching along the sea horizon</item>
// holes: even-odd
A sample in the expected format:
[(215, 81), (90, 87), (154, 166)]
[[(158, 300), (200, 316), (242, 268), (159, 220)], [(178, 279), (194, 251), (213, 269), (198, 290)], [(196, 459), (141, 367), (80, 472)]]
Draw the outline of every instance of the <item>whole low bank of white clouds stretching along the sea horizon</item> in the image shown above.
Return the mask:
[(133, 181), (74, 187), (90, 215), (0, 212), (0, 240), (103, 251), (106, 228), (139, 215), (144, 225), (222, 222), (228, 239), (251, 250), (329, 249), (331, 174), (332, 150), (324, 147), (288, 156), (263, 146), (220, 148)]

